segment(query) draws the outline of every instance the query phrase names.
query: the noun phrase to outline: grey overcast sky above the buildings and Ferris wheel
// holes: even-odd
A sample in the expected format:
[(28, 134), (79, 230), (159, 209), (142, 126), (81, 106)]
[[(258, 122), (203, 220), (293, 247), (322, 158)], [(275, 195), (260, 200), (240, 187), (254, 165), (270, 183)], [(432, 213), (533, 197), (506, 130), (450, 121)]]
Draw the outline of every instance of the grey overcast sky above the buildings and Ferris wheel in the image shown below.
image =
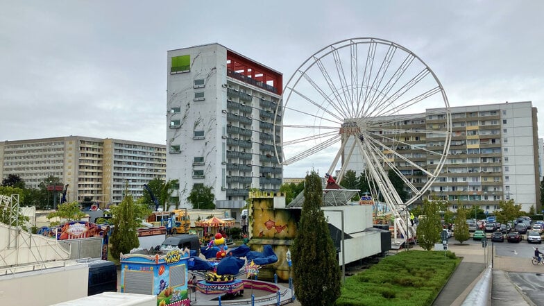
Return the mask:
[[(263, 2), (0, 0), (0, 141), (165, 144), (167, 51), (212, 42), (287, 82), (324, 46), (377, 37), (421, 58), (452, 106), (544, 105), (544, 1)], [(329, 166), (309, 158), (284, 176)]]

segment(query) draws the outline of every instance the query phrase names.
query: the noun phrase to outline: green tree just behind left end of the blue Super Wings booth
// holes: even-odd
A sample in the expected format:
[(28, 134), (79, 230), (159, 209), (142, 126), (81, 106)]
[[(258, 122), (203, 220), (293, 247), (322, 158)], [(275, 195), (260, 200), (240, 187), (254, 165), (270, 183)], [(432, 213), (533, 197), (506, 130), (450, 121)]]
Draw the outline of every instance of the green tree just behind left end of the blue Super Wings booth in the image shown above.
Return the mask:
[[(125, 191), (126, 192), (126, 191)], [(123, 201), (117, 206), (111, 207), (113, 224), (112, 257), (119, 260), (121, 253), (127, 254), (133, 248), (139, 246), (136, 229), (142, 225), (142, 214), (148, 216), (148, 210), (143, 203), (135, 203), (131, 194), (126, 194)]]

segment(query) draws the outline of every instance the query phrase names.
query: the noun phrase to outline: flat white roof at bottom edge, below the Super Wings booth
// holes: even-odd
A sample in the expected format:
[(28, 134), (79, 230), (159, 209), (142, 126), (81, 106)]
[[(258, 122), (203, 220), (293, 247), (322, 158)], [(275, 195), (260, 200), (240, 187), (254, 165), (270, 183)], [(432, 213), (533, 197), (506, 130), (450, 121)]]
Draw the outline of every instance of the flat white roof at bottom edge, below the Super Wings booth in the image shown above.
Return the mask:
[(157, 296), (146, 294), (122, 294), (121, 292), (103, 292), (94, 296), (69, 300), (58, 306), (157, 306)]

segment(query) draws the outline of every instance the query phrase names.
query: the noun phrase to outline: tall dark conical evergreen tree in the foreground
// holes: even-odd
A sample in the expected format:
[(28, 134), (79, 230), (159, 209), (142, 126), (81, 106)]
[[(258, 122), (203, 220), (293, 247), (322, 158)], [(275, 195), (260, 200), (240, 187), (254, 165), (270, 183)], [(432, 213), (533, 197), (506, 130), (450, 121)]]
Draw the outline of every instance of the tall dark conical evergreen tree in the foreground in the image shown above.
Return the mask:
[(303, 306), (333, 305), (340, 296), (340, 269), (325, 214), (321, 178), (306, 176), (303, 210), (292, 248), (294, 287)]

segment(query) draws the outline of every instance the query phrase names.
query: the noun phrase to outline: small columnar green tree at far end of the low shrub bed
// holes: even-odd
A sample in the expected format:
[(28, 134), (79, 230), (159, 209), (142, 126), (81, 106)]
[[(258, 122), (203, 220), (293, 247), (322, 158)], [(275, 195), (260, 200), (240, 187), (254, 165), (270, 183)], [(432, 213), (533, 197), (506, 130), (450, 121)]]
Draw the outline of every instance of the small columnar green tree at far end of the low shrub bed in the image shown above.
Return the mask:
[(442, 230), (440, 219), (440, 206), (442, 200), (434, 198), (423, 200), (423, 215), (425, 216), (419, 221), (417, 235), (418, 244), (425, 250), (431, 250), (434, 244), (440, 241), (440, 232)]

